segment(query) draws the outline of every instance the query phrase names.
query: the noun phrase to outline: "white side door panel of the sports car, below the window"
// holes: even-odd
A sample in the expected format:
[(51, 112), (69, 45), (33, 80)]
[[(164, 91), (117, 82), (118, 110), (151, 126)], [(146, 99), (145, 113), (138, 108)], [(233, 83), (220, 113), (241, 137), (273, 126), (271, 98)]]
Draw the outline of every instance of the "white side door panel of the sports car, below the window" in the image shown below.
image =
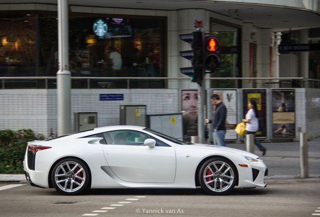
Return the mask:
[(123, 181), (173, 183), (175, 180), (173, 147), (105, 145), (103, 150), (110, 169)]

